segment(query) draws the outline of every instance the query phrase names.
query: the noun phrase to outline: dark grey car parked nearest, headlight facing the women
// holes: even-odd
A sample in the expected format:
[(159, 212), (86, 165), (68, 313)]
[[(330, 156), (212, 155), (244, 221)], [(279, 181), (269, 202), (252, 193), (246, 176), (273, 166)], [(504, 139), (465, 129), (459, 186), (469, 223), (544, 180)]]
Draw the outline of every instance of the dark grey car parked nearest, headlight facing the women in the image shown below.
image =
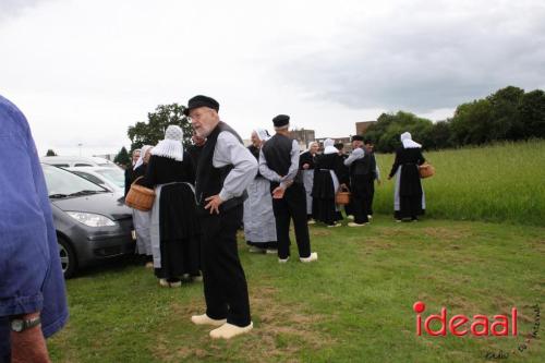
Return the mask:
[(41, 167), (65, 278), (82, 267), (134, 253), (132, 214), (122, 201), (62, 168)]

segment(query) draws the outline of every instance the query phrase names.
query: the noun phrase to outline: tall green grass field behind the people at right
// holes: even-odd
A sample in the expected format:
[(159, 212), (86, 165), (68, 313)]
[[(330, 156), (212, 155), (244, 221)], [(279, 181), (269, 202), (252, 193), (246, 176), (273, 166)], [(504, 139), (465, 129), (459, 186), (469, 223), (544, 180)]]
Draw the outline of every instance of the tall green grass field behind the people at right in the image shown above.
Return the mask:
[[(436, 174), (423, 180), (432, 218), (545, 226), (545, 141), (424, 153)], [(383, 185), (374, 209), (393, 210), (393, 155), (377, 155)]]

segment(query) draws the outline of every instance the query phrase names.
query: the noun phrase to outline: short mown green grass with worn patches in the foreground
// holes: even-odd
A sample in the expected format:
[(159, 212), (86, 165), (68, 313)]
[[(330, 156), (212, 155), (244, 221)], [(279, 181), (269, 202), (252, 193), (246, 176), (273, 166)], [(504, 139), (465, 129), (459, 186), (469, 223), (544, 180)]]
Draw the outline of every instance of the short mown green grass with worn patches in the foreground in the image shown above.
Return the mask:
[[(377, 216), (361, 229), (311, 233), (319, 261), (308, 265), (249, 254), (240, 240), (255, 329), (229, 342), (190, 323), (204, 308), (201, 283), (161, 289), (149, 269), (130, 263), (84, 271), (68, 281), (71, 319), (48, 342), (52, 360), (483, 362), (488, 350), (517, 349), (534, 323), (530, 305), (545, 306), (543, 227)], [(517, 306), (520, 336), (416, 337), (417, 300), (425, 316), (441, 306), (449, 316)], [(504, 361), (545, 361), (543, 327), (538, 336)]]

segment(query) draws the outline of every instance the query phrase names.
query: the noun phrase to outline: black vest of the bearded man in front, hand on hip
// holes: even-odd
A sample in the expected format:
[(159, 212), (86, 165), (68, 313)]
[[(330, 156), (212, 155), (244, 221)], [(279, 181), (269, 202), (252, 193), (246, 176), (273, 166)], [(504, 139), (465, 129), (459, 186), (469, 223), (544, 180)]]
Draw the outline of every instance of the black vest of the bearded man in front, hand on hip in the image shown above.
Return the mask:
[[(216, 149), (216, 143), (218, 142), (218, 135), (220, 132), (227, 131), (233, 134), (242, 144), (242, 138), (239, 136), (237, 131), (231, 129), (227, 123), (219, 121), (216, 129), (206, 137), (206, 144), (201, 150), (201, 155), (198, 157), (197, 172), (196, 172), (196, 182), (195, 182), (195, 197), (197, 198), (197, 213), (201, 215), (209, 215), (209, 209), (205, 209), (205, 205), (208, 203), (206, 198), (221, 192), (223, 187), (223, 181), (226, 180), (229, 172), (233, 169), (232, 165), (228, 165), (221, 168), (215, 168), (213, 164), (214, 159), (214, 150)], [(235, 207), (240, 204), (244, 203), (244, 199), (247, 198), (247, 193), (244, 193), (241, 196), (235, 196), (230, 198), (227, 202), (223, 202), (219, 206), (220, 213), (222, 210), (228, 210), (232, 207)]]

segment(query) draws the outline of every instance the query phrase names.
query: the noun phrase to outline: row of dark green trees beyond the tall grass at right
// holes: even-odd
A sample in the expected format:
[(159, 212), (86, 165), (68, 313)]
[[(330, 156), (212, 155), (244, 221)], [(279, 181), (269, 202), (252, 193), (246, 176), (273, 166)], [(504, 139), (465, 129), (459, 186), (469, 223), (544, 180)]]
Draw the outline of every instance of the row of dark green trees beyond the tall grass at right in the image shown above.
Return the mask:
[(508, 86), (458, 106), (452, 118), (435, 123), (405, 111), (383, 113), (365, 137), (374, 141), (376, 150), (391, 153), (405, 131), (425, 149), (545, 138), (545, 93)]

